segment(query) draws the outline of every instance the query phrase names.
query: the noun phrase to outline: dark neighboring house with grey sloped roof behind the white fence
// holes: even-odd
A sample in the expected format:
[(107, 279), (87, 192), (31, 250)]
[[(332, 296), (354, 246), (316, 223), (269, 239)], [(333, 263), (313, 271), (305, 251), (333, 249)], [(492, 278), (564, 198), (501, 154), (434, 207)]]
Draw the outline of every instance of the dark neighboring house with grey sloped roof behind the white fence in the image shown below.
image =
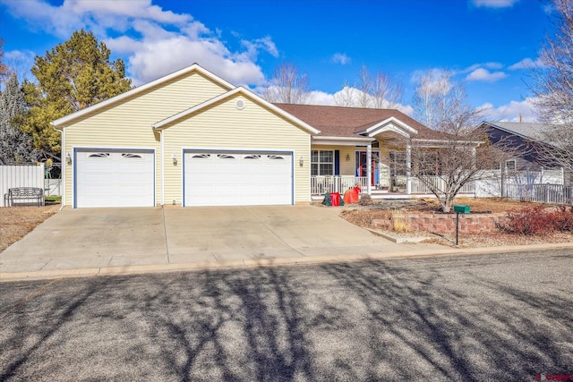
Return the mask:
[(543, 123), (513, 123), (513, 122), (483, 122), (479, 126), (486, 132), (492, 143), (503, 142), (509, 149), (515, 150), (515, 157), (508, 158), (500, 168), (506, 172), (519, 174), (531, 172), (531, 174), (543, 174), (550, 170), (553, 174), (560, 172), (560, 182), (552, 175), (543, 179), (537, 176), (532, 183), (564, 183), (563, 169), (559, 164), (552, 164), (545, 157), (543, 151), (552, 149), (551, 142), (547, 141), (547, 133), (554, 128), (553, 125)]

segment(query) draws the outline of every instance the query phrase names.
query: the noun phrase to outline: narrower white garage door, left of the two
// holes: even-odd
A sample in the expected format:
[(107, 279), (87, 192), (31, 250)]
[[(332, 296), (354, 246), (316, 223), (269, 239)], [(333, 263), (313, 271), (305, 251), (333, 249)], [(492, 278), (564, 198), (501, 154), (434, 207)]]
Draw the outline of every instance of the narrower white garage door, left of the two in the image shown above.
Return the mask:
[(75, 207), (153, 207), (152, 150), (78, 149)]

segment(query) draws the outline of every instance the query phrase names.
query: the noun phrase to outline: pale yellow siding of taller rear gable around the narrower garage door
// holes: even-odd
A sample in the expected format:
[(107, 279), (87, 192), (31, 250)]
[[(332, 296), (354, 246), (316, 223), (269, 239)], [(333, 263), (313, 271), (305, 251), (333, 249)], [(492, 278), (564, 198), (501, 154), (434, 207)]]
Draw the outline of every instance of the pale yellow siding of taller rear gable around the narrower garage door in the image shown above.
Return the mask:
[[(155, 149), (156, 203), (161, 203), (159, 134), (152, 124), (217, 97), (227, 89), (197, 72), (148, 89), (65, 127), (65, 153), (77, 147)], [(171, 155), (171, 154), (170, 154)], [(169, 160), (171, 160), (169, 158)], [(73, 203), (72, 166), (65, 166), (65, 205)]]

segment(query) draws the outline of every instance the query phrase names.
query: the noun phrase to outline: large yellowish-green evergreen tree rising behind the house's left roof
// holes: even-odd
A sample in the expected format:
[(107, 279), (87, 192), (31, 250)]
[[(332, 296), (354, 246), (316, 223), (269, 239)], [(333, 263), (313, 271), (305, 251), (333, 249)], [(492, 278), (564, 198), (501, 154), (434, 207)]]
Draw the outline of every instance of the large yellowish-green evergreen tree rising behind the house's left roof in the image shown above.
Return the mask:
[(37, 149), (60, 155), (60, 135), (50, 122), (131, 89), (121, 59), (92, 32), (79, 30), (70, 39), (37, 56), (31, 69), (37, 83), (25, 82), (29, 114), (22, 126)]

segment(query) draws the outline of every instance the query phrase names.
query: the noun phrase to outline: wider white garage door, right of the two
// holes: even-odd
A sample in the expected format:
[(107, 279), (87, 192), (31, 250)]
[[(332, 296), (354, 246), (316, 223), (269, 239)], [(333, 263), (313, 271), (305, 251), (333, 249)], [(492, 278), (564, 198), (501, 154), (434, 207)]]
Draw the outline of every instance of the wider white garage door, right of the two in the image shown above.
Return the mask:
[(293, 203), (290, 152), (185, 152), (185, 206)]

